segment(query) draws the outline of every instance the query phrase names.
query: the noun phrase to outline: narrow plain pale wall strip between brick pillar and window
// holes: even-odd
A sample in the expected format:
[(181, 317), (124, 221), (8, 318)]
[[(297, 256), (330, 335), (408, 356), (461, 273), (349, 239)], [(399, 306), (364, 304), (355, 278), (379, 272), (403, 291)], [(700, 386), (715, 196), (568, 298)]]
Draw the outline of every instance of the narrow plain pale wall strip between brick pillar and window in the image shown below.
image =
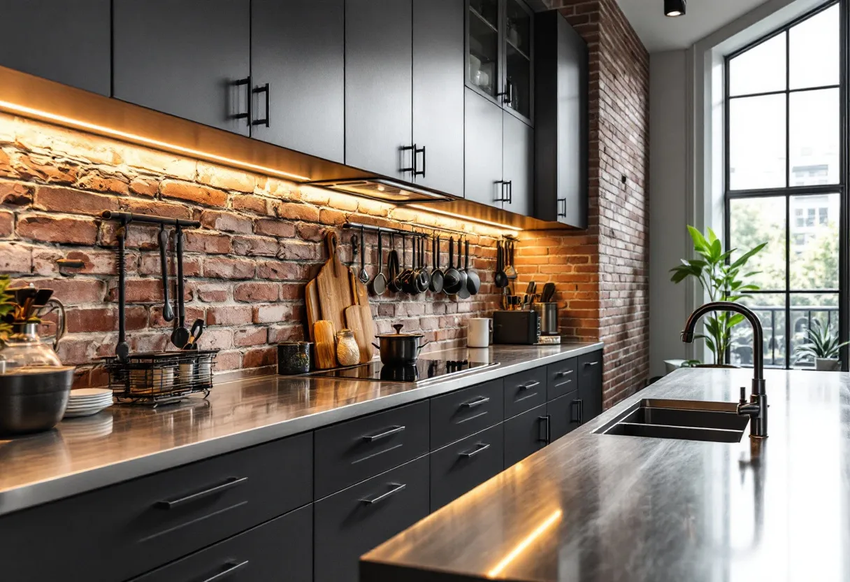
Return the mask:
[(686, 284), (670, 269), (689, 256), (688, 51), (649, 55), (649, 375), (684, 358), (679, 338), (688, 317)]

